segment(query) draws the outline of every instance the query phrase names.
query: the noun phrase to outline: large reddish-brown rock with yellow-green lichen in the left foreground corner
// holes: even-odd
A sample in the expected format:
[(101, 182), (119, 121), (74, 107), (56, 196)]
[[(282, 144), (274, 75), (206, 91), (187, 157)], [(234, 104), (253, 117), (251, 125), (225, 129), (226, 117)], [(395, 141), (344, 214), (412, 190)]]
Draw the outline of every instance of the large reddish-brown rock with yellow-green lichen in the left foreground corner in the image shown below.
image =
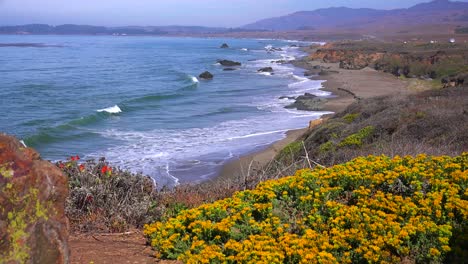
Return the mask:
[(68, 263), (67, 196), (55, 165), (0, 134), (0, 262)]

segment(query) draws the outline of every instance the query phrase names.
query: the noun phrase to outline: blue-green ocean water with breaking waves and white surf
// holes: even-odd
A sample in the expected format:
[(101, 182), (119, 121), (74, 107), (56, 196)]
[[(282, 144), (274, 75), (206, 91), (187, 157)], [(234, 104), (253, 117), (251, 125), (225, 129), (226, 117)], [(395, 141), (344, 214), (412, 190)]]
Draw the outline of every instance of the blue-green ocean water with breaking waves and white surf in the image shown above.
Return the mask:
[[(222, 43), (229, 49), (220, 49)], [(307, 126), (318, 112), (280, 96), (318, 90), (277, 40), (0, 36), (0, 131), (50, 160), (104, 156), (159, 185), (213, 177), (226, 161)], [(300, 43), (299, 43), (300, 44)], [(283, 51), (268, 52), (269, 45)], [(242, 63), (223, 71), (218, 59)], [(274, 75), (257, 73), (272, 66)], [(208, 70), (211, 81), (198, 80)]]

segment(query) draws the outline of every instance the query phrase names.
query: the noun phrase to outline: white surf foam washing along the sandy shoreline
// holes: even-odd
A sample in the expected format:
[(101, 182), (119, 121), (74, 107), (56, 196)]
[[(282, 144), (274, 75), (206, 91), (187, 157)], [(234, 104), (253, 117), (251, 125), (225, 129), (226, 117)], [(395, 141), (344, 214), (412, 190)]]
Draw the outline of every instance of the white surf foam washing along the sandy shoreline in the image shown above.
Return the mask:
[[(272, 47), (268, 45), (265, 48)], [(296, 56), (301, 56), (297, 48), (282, 47), (282, 49), (283, 51), (268, 55), (271, 57), (269, 59), (249, 61), (245, 64), (245, 69), (249, 74), (257, 74), (259, 68), (272, 67), (274, 75), (258, 74), (268, 75), (271, 78), (288, 78), (291, 82), (289, 90), (285, 87), (284, 90), (287, 91), (279, 91), (281, 94), (271, 94), (267, 98), (262, 95), (251, 98), (251, 103), (245, 102), (249, 106), (257, 107), (261, 114), (202, 128), (99, 131), (101, 136), (118, 140), (119, 144), (104, 149), (100, 153), (94, 153), (93, 156), (105, 156), (122, 168), (153, 176), (158, 186), (177, 185), (179, 182), (177, 177), (181, 175), (178, 169), (180, 164), (186, 164), (190, 160), (199, 160), (200, 164), (196, 164), (197, 166), (213, 167), (214, 170), (223, 160), (252, 151), (255, 146), (271, 144), (284, 137), (287, 130), (307, 126), (311, 119), (325, 112), (285, 109), (284, 106), (290, 104), (291, 100), (279, 100), (278, 97), (302, 95), (304, 92), (323, 96), (328, 95), (328, 92), (320, 90), (321, 81), (309, 80), (298, 76), (299, 74), (295, 75), (296, 68), (293, 65), (272, 63), (275, 60), (292, 60)], [(262, 56), (265, 56), (264, 50), (252, 50), (252, 52), (257, 51), (263, 52)], [(193, 82), (198, 81), (194, 76), (190, 76), (190, 79)], [(122, 153), (125, 153), (125, 158), (122, 158)], [(202, 155), (211, 155), (211, 158), (215, 157), (216, 162), (213, 162), (213, 159), (203, 158)], [(193, 177), (193, 181), (200, 180), (206, 177), (206, 171), (190, 177)]]

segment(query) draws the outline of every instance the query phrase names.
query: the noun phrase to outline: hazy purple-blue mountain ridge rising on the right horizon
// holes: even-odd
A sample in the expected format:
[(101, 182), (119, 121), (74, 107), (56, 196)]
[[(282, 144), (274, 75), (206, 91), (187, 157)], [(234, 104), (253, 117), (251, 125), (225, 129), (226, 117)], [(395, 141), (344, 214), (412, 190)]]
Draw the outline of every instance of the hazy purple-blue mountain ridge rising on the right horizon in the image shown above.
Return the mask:
[(468, 3), (435, 0), (407, 9), (376, 10), (333, 7), (301, 11), (282, 17), (260, 20), (242, 28), (273, 31), (332, 28), (378, 29), (459, 22), (468, 22)]

